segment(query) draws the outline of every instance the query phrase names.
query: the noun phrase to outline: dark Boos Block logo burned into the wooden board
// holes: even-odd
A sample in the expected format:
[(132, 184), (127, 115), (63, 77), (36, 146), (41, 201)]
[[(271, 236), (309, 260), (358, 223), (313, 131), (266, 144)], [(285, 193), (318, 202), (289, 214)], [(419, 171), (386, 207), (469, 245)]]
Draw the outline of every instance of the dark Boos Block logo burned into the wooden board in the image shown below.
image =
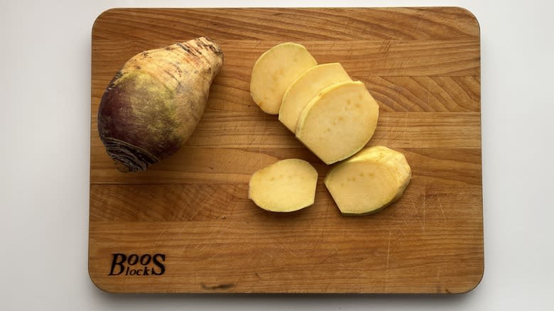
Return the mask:
[(108, 275), (148, 276), (165, 273), (165, 254), (112, 253), (112, 267)]

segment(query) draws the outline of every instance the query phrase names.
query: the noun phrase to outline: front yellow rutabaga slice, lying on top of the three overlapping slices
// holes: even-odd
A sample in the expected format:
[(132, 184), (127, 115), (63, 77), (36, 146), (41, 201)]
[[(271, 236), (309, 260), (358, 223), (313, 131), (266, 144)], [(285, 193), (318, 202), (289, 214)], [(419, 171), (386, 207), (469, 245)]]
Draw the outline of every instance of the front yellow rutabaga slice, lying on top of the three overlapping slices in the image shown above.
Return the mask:
[(327, 164), (364, 148), (379, 119), (379, 105), (362, 82), (323, 89), (304, 108), (296, 138)]

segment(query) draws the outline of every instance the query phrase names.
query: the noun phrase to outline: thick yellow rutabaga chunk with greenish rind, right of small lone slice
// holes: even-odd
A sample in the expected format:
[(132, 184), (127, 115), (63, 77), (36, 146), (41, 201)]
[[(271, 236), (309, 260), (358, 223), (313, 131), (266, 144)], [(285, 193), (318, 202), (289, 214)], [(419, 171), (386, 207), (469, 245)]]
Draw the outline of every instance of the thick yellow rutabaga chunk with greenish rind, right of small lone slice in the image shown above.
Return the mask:
[(411, 168), (398, 151), (364, 148), (325, 176), (325, 187), (342, 214), (377, 212), (398, 200), (411, 180)]

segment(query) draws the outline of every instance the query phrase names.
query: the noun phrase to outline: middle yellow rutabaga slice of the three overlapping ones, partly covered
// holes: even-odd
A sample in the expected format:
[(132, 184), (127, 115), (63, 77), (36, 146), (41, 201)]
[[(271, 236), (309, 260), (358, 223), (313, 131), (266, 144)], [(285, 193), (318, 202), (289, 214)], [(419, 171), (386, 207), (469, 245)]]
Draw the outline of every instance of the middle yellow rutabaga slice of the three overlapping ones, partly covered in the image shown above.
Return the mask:
[(286, 90), (279, 110), (279, 121), (295, 133), (298, 117), (310, 99), (313, 99), (325, 87), (347, 81), (352, 81), (352, 79), (338, 62), (310, 68)]

